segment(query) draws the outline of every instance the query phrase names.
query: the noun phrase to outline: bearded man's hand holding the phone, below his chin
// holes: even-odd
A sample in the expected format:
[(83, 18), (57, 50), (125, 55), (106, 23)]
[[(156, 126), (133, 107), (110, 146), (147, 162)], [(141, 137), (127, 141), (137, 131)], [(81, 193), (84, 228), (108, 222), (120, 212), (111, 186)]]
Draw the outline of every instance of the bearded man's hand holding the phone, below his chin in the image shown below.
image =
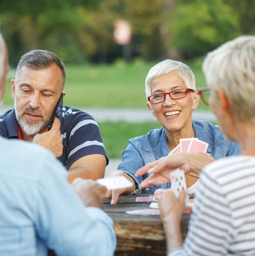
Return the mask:
[(49, 149), (58, 158), (62, 155), (63, 144), (60, 132), (60, 120), (55, 117), (50, 131), (36, 134), (33, 142)]

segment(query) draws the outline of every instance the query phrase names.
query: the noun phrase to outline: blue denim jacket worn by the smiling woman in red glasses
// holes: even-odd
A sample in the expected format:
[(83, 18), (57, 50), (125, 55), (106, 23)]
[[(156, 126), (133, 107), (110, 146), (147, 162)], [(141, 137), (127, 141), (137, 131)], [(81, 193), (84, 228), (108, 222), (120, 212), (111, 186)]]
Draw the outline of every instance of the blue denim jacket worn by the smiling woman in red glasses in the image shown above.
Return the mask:
[[(214, 159), (238, 155), (241, 148), (238, 143), (228, 141), (218, 125), (212, 125), (208, 121), (193, 120), (195, 137), (209, 144), (207, 153)], [(140, 191), (138, 189), (142, 180), (148, 177), (146, 173), (142, 177), (135, 177), (136, 171), (161, 157), (167, 156), (170, 150), (168, 147), (166, 133), (163, 127), (149, 131), (146, 135), (131, 138), (125, 151), (122, 153), (121, 164), (118, 170), (123, 170), (132, 177), (136, 183), (135, 194), (154, 193), (156, 189), (171, 187), (171, 183), (154, 185)]]

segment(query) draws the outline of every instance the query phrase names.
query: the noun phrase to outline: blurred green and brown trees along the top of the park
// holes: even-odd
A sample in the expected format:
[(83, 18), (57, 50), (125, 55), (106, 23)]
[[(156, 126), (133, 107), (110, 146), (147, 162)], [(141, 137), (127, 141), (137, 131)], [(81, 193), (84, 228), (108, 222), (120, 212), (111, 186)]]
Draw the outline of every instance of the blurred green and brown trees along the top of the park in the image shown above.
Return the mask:
[[(1, 0), (1, 31), (11, 65), (31, 49), (67, 63), (131, 58), (194, 58), (240, 34), (255, 33), (254, 0)], [(113, 41), (128, 20), (129, 45)]]

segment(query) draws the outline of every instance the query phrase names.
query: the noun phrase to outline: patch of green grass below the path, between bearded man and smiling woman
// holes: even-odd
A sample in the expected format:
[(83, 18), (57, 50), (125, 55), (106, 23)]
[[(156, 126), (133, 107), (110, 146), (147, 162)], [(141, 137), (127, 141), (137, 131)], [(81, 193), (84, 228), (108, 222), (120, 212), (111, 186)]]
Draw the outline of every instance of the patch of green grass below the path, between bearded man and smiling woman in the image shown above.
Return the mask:
[(98, 125), (109, 158), (121, 158), (121, 154), (128, 146), (130, 138), (144, 135), (152, 129), (160, 128), (160, 124), (157, 122), (139, 124), (101, 122)]

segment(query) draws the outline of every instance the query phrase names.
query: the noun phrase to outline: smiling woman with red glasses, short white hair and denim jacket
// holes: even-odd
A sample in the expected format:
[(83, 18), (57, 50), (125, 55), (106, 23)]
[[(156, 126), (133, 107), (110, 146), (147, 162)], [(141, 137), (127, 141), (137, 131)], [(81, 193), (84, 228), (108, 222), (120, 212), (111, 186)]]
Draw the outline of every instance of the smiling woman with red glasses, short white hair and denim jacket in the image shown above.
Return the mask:
[[(149, 70), (145, 89), (147, 107), (162, 127), (129, 140), (118, 170), (109, 176), (123, 175), (130, 179), (133, 186), (108, 191), (107, 196), (112, 198), (112, 204), (117, 203), (120, 194), (153, 193), (158, 188), (171, 187), (168, 182), (141, 190), (139, 184), (148, 174), (136, 177), (135, 173), (146, 164), (167, 156), (179, 145), (181, 138), (197, 137), (209, 144), (208, 154), (198, 156), (199, 159), (194, 157), (193, 162), (209, 163), (241, 152), (240, 146), (228, 141), (219, 126), (207, 121), (192, 120), (192, 111), (198, 107), (201, 94), (197, 91), (195, 76), (186, 64), (170, 59), (159, 62)], [(197, 179), (186, 175), (187, 187)]]

